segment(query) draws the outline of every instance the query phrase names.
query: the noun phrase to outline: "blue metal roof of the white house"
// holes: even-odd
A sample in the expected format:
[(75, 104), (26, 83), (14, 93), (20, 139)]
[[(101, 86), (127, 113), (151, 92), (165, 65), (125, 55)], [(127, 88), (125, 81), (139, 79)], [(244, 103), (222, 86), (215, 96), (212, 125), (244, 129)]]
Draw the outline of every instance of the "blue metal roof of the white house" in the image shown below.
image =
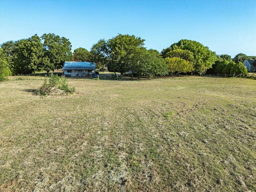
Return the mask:
[(95, 69), (95, 63), (65, 61), (62, 70), (91, 70)]

